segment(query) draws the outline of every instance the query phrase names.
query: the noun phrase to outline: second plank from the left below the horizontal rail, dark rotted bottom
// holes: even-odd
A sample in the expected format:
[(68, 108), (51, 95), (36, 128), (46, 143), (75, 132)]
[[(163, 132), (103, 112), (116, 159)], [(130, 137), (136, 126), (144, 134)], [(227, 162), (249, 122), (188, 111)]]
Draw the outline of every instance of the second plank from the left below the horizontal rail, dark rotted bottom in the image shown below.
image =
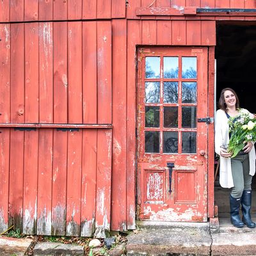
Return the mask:
[(10, 131), (9, 227), (22, 230), (24, 131)]

